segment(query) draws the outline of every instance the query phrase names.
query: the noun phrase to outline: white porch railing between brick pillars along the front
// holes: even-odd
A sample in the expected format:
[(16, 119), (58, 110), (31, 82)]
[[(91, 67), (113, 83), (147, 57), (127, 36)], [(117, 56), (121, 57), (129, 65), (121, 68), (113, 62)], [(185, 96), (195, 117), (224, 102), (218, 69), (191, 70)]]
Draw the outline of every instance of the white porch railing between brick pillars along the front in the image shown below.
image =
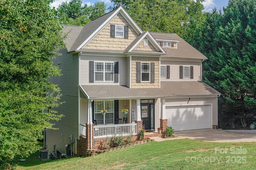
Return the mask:
[(94, 126), (94, 138), (137, 135), (137, 123)]

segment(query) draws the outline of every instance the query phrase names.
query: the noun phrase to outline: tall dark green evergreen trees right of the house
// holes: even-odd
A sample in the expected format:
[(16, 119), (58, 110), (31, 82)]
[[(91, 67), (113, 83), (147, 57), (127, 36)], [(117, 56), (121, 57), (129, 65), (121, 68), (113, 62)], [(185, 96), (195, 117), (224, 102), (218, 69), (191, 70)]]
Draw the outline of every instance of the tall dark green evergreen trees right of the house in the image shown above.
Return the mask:
[(192, 45), (208, 57), (205, 82), (218, 90), (219, 118), (226, 117), (234, 128), (240, 117), (256, 110), (256, 2), (230, 0), (224, 14), (205, 13)]

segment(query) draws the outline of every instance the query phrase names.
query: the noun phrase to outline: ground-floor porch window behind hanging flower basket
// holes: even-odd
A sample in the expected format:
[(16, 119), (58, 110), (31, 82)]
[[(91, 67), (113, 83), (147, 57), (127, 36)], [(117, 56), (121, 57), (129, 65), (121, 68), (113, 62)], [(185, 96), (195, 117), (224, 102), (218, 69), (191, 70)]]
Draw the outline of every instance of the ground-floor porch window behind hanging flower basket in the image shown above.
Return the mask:
[[(108, 113), (102, 115), (101, 110), (107, 110)], [(114, 124), (114, 101), (94, 101), (94, 120), (97, 124)]]

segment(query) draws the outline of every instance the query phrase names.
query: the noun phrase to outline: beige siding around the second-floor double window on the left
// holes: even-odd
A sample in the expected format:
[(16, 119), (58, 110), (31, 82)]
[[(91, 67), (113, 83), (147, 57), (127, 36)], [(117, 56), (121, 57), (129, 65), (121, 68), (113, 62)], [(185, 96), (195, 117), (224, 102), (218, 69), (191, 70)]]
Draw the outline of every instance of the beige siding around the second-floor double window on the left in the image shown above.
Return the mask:
[[(93, 82), (89, 83), (89, 61), (118, 61), (118, 83), (114, 82)], [(126, 85), (126, 57), (120, 56), (95, 56), (95, 55), (81, 55), (80, 56), (80, 84), (82, 85)]]

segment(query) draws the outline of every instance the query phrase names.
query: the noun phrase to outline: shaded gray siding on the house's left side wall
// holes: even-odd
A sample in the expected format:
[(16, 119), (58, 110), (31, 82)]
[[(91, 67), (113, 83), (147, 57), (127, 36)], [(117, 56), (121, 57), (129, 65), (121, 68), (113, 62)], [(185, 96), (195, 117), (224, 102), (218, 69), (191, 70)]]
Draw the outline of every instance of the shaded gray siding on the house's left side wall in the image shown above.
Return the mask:
[(66, 153), (66, 145), (70, 144), (69, 135), (72, 134), (75, 140), (72, 151), (76, 153), (76, 139), (79, 139), (78, 55), (69, 55), (66, 52), (66, 50), (61, 51), (63, 55), (52, 60), (54, 65), (60, 63), (59, 68), (61, 69), (62, 76), (53, 77), (49, 81), (58, 84), (62, 94), (60, 102), (64, 102), (59, 107), (52, 109), (58, 111), (58, 114), (63, 114), (64, 117), (58, 122), (52, 122), (55, 123), (54, 127), (58, 128), (58, 130), (47, 130), (46, 144), (47, 148), (52, 151), (55, 144), (56, 150)]

